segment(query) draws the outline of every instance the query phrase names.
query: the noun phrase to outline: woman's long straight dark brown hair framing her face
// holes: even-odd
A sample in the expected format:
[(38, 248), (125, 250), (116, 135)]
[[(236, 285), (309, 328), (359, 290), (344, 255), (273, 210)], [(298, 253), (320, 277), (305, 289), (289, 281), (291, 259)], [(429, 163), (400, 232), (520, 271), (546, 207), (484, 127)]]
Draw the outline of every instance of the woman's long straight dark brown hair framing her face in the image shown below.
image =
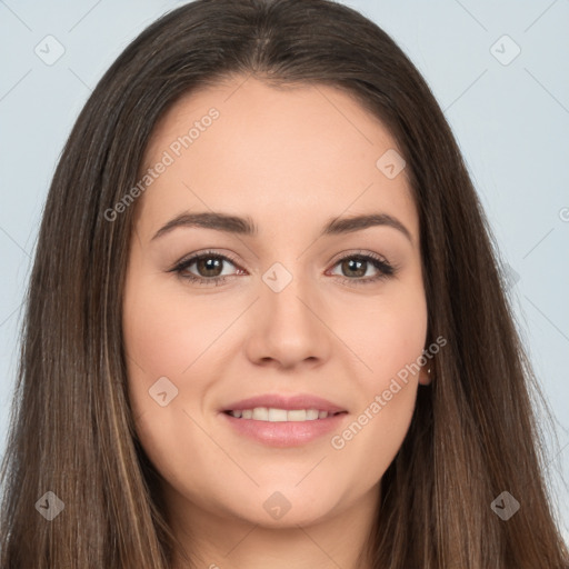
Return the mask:
[[(442, 336), (448, 345), (382, 478), (366, 551), (373, 567), (568, 567), (545, 476), (536, 379), (498, 248), (425, 80), (378, 26), (345, 6), (198, 0), (160, 18), (117, 59), (57, 167), (2, 463), (0, 568), (169, 567), (176, 539), (127, 395), (121, 291), (134, 207), (113, 221), (104, 212), (137, 183), (164, 111), (232, 74), (345, 89), (389, 128), (407, 161), (427, 343)], [(64, 507), (51, 521), (39, 513), (60, 503), (50, 491)], [(490, 507), (502, 491), (520, 502), (507, 521)]]

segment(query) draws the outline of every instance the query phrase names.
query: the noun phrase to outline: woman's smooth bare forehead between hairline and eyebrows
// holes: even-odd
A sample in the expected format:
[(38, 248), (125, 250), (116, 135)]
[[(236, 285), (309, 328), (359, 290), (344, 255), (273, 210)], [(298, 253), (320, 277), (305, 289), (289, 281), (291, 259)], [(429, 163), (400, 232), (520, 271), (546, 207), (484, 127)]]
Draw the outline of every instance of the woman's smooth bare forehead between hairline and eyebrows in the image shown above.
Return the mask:
[(382, 157), (398, 160), (392, 152), (401, 153), (381, 121), (339, 89), (236, 77), (183, 97), (157, 124), (140, 176), (168, 166), (144, 191), (139, 218), (150, 231), (183, 210), (222, 210), (258, 219), (262, 232), (382, 211), (415, 237), (407, 172), (382, 170)]

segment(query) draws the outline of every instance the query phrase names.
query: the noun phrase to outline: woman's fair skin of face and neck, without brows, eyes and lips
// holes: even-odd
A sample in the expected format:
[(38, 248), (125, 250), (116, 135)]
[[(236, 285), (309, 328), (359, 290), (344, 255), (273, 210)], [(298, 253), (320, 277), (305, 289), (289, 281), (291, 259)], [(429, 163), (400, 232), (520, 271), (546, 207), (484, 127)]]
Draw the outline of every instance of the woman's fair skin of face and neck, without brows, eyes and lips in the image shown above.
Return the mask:
[[(237, 435), (219, 411), (244, 397), (309, 392), (349, 411), (338, 433), (417, 361), (427, 336), (417, 209), (405, 169), (389, 179), (376, 167), (397, 142), (349, 94), (244, 79), (178, 101), (147, 149), (144, 168), (219, 110), (136, 203), (123, 332), (137, 435), (163, 477), (168, 520), (199, 567), (370, 567), (358, 556), (426, 369), (339, 450), (335, 433), (264, 446)], [(186, 227), (152, 240), (179, 213), (211, 210), (250, 216), (259, 233)], [(387, 226), (318, 237), (331, 218), (377, 212), (397, 218), (411, 240)], [(230, 274), (221, 286), (169, 272), (208, 249), (237, 263), (220, 261), (217, 273), (193, 263), (186, 273)], [(357, 286), (379, 272), (338, 262), (357, 252), (398, 271)], [(274, 262), (292, 276), (280, 292), (262, 280)], [(149, 396), (161, 377), (178, 389), (164, 407)], [(277, 491), (290, 503), (280, 519), (263, 508)]]

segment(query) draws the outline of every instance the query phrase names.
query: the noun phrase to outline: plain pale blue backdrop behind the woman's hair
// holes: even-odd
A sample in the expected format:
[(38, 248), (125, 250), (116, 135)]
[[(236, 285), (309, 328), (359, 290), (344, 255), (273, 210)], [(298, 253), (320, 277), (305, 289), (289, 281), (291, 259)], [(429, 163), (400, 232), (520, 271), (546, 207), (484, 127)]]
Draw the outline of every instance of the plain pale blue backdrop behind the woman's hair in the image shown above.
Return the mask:
[[(104, 70), (139, 31), (181, 3), (0, 0), (1, 452), (22, 292), (62, 146)], [(511, 267), (522, 338), (559, 421), (549, 471), (567, 539), (569, 491), (557, 469), (569, 479), (569, 0), (349, 6), (383, 28), (427, 79)], [(48, 34), (64, 48), (52, 66), (34, 53)], [(521, 49), (509, 64), (490, 51), (503, 34)], [(515, 49), (500, 40), (492, 51), (503, 60)], [(516, 498), (523, 508), (523, 497)]]

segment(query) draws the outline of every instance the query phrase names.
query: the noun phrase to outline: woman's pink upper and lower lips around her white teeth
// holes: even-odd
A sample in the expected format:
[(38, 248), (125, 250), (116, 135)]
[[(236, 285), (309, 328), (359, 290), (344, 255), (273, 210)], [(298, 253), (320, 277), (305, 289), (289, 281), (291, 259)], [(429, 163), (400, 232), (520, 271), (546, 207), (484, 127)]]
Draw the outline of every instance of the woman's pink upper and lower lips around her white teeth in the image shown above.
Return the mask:
[[(272, 407), (287, 410), (317, 409), (319, 411), (328, 411), (329, 415), (326, 419), (271, 422), (237, 418), (228, 412), (254, 409), (256, 407)], [(338, 430), (348, 416), (348, 411), (342, 407), (316, 396), (281, 396), (269, 393), (230, 403), (219, 415), (236, 432), (257, 442), (271, 447), (298, 447), (330, 433), (333, 430)]]

